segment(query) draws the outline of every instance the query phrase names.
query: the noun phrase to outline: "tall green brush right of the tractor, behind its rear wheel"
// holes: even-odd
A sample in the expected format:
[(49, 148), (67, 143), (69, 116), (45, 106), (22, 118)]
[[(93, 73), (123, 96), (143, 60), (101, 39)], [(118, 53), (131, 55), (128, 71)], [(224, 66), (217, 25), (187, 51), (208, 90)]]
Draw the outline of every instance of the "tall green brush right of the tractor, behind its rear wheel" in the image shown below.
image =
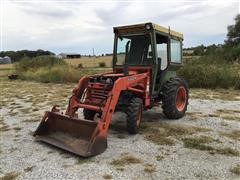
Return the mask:
[(190, 87), (240, 89), (240, 64), (223, 63), (223, 61), (217, 64), (214, 59), (216, 57), (207, 61), (211, 57), (213, 55), (188, 62), (178, 74), (187, 80)]

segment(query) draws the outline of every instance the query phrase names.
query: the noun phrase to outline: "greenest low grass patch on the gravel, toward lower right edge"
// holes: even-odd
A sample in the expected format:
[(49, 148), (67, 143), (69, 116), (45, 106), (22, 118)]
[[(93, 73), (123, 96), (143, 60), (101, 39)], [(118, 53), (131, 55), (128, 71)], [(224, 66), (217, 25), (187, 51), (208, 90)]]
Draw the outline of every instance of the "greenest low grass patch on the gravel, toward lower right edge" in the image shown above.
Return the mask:
[(190, 138), (183, 138), (182, 139), (184, 143), (184, 147), (190, 148), (190, 149), (197, 149), (201, 151), (208, 151), (210, 154), (221, 154), (221, 155), (227, 155), (227, 156), (239, 156), (239, 152), (235, 149), (226, 147), (213, 147), (210, 145), (207, 145), (208, 143), (211, 143), (215, 141), (211, 137), (190, 137)]

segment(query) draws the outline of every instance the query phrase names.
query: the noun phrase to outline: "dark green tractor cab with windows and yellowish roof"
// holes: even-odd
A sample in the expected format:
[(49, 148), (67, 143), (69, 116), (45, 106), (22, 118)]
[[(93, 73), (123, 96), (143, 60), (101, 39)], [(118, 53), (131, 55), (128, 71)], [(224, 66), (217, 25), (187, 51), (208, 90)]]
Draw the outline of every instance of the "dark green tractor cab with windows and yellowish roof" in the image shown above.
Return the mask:
[(158, 96), (160, 87), (182, 65), (183, 35), (170, 28), (145, 23), (114, 27), (113, 69), (126, 75), (151, 69), (150, 92)]

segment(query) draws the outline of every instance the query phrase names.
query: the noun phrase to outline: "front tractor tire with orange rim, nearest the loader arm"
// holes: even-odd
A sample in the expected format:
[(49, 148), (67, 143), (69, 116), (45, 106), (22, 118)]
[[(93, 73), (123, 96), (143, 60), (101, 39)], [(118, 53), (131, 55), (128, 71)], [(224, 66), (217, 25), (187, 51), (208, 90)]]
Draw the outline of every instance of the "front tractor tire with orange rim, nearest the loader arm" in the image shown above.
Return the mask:
[(143, 102), (142, 99), (133, 97), (129, 100), (126, 109), (127, 115), (127, 131), (129, 134), (137, 134), (142, 119)]

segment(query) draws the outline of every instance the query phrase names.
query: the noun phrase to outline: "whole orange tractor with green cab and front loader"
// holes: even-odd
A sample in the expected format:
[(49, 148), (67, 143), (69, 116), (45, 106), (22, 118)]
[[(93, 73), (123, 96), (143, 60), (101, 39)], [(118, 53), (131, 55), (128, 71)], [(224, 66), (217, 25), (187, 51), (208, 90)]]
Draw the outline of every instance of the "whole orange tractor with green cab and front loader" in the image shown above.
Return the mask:
[[(82, 77), (65, 114), (47, 111), (34, 133), (37, 140), (80, 156), (107, 148), (108, 128), (116, 111), (125, 112), (126, 129), (136, 134), (142, 112), (159, 106), (169, 119), (184, 116), (186, 82), (182, 66), (183, 35), (153, 23), (115, 27), (113, 72)], [(78, 118), (82, 109), (84, 119)]]

